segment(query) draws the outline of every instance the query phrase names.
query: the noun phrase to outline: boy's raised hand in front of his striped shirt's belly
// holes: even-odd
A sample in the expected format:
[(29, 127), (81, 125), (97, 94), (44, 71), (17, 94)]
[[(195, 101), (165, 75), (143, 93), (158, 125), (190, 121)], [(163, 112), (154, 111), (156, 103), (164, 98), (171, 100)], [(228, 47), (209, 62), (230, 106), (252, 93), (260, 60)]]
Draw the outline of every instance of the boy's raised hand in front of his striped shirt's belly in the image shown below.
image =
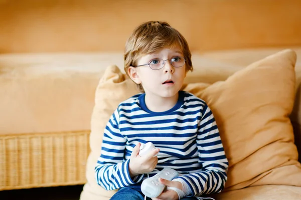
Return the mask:
[[(158, 157), (155, 156), (160, 149), (156, 148), (150, 152), (148, 152), (144, 156), (140, 156), (139, 148), (140, 148), (140, 142), (133, 148), (133, 151), (130, 155), (129, 160), (129, 173), (130, 176), (133, 177), (135, 175), (141, 174), (141, 173), (148, 173), (150, 171), (153, 171), (158, 163)], [(155, 156), (155, 157), (154, 157)]]

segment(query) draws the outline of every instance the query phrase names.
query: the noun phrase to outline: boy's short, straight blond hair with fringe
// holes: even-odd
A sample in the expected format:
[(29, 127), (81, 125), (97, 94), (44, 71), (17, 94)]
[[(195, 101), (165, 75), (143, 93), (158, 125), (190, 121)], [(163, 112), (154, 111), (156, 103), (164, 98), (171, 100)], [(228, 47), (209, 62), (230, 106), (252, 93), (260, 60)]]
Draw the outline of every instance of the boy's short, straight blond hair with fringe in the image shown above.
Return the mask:
[[(179, 46), (185, 58), (186, 72), (192, 71), (191, 52), (184, 36), (164, 21), (147, 21), (137, 26), (125, 43), (124, 70), (135, 66), (140, 56), (153, 53), (166, 47)], [(139, 91), (144, 92), (141, 84)]]

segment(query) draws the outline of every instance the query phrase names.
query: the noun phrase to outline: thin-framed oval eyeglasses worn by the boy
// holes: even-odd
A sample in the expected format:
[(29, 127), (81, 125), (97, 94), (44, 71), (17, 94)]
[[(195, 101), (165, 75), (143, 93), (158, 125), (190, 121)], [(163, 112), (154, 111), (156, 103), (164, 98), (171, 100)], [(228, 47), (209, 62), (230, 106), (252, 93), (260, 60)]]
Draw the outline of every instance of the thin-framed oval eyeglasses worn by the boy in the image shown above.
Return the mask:
[[(167, 61), (167, 60), (169, 60), (171, 65), (173, 65), (174, 67), (181, 67), (185, 64), (185, 58), (177, 56), (177, 57), (173, 57), (172, 59), (166, 59), (166, 60), (156, 58), (156, 59), (150, 60), (148, 62), (148, 64), (141, 64), (141, 65), (137, 65), (137, 66), (148, 65), (151, 69), (158, 70), (158, 69), (163, 68), (165, 61)], [(133, 67), (137, 67), (137, 66), (133, 66)]]

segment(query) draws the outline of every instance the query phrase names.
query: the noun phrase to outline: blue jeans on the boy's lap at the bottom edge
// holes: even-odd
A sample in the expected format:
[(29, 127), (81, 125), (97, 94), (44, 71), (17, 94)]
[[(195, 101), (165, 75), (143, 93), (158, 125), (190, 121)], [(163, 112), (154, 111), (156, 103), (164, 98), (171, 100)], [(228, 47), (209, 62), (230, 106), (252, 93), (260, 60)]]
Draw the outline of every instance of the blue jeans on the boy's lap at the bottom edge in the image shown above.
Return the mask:
[[(146, 197), (147, 200), (152, 198)], [(194, 200), (196, 197), (185, 197), (182, 200)], [(144, 194), (141, 192), (140, 184), (135, 184), (120, 188), (110, 200), (144, 200)]]

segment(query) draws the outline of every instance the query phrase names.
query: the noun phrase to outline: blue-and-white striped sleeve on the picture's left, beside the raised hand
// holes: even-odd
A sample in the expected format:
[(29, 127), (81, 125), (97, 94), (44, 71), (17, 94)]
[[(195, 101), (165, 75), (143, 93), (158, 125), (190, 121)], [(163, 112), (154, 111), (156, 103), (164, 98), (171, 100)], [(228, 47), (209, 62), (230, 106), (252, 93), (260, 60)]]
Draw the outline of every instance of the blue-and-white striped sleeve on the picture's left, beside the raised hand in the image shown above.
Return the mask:
[(143, 174), (130, 177), (129, 159), (124, 160), (126, 138), (119, 131), (118, 116), (118, 111), (115, 110), (107, 122), (102, 140), (101, 155), (95, 166), (96, 181), (106, 190), (135, 184), (143, 178)]

